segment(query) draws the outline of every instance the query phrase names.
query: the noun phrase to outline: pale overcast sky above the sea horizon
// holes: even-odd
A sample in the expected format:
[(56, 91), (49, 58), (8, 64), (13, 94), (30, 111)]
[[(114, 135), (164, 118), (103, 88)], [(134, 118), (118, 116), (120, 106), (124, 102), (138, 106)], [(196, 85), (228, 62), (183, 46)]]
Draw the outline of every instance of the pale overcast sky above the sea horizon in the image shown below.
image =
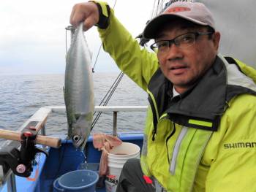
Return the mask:
[[(64, 28), (69, 25), (73, 5), (80, 1), (0, 1), (0, 74), (64, 73)], [(108, 3), (113, 7), (113, 0)], [(115, 12), (135, 37), (151, 18), (153, 5), (154, 0), (119, 0)], [(95, 58), (100, 46), (95, 27), (86, 32), (86, 39)], [(102, 50), (95, 70), (118, 71)]]

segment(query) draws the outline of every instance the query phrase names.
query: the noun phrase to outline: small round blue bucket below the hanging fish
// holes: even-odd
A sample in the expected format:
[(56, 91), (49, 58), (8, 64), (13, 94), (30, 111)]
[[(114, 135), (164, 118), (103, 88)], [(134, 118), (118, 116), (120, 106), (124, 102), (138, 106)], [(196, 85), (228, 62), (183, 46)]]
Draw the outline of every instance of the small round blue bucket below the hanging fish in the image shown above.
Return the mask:
[(97, 172), (80, 169), (63, 174), (53, 187), (56, 191), (94, 192), (98, 180)]

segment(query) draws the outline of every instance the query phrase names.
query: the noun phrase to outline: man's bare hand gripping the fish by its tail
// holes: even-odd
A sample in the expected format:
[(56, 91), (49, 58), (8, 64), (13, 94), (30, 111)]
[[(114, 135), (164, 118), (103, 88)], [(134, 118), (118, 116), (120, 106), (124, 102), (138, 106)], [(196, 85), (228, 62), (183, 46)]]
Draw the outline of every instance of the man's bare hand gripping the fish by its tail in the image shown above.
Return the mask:
[(69, 22), (75, 28), (78, 27), (79, 23), (83, 22), (83, 31), (87, 31), (99, 22), (99, 9), (97, 4), (94, 2), (75, 4)]

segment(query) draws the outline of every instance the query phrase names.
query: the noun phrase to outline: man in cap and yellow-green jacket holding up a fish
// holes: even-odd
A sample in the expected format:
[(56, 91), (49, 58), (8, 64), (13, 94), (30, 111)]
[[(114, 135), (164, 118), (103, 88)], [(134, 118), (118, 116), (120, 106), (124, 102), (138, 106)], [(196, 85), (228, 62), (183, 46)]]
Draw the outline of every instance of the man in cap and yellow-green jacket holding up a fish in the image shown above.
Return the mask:
[(218, 53), (203, 4), (173, 3), (147, 24), (157, 54), (105, 3), (76, 4), (70, 23), (80, 22), (99, 27), (104, 49), (149, 95), (140, 163), (127, 161), (118, 192), (256, 191), (256, 71)]

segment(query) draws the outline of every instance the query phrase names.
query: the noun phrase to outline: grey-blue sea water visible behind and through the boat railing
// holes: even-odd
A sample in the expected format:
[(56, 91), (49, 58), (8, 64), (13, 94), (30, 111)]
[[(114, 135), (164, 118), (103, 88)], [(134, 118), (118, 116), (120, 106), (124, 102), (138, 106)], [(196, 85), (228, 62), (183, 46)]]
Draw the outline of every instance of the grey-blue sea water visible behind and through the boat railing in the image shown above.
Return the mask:
[[(118, 73), (94, 73), (95, 104), (99, 105)], [(64, 74), (0, 75), (0, 128), (16, 131), (40, 107), (64, 106)], [(108, 105), (147, 105), (147, 93), (125, 76)], [(143, 131), (146, 112), (118, 112), (118, 132)], [(104, 112), (94, 132), (111, 132), (113, 113)], [(65, 112), (48, 117), (47, 135), (67, 134)]]

